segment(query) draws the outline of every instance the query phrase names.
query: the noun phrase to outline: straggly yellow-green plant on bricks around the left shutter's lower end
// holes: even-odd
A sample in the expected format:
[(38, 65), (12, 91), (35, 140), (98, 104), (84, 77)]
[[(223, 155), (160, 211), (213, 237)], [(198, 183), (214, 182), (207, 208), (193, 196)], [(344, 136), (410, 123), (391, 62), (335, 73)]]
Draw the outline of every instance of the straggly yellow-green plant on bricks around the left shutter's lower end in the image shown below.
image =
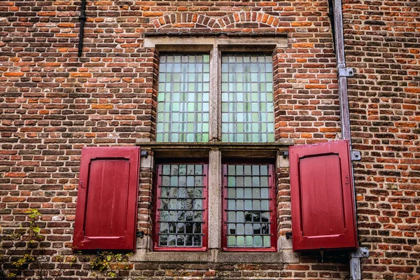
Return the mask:
[[(64, 273), (77, 262), (73, 251), (68, 250), (64, 255), (52, 255), (42, 246), (45, 238), (40, 234), (38, 221), (41, 213), (36, 209), (29, 209), (28, 222), (20, 228), (10, 232), (0, 227), (0, 280), (20, 279), (23, 271), (31, 272), (32, 279), (59, 280)], [(10, 233), (9, 233), (10, 232)], [(132, 264), (128, 260), (132, 253), (113, 253), (104, 251), (92, 258), (82, 258), (83, 262), (90, 261), (91, 276), (99, 279), (106, 278), (132, 280), (130, 276)], [(51, 264), (54, 263), (52, 266)], [(22, 277), (23, 278), (23, 277)]]

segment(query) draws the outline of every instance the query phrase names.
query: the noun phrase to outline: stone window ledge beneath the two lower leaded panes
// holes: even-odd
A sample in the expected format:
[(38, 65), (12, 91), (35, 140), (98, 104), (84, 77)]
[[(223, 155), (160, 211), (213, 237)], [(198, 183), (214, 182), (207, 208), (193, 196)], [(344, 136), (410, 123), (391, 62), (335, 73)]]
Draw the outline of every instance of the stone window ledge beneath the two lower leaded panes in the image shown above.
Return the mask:
[(292, 250), (279, 252), (221, 252), (213, 249), (207, 252), (148, 252), (138, 249), (130, 257), (132, 261), (144, 262), (229, 262), (229, 263), (294, 263), (299, 262)]

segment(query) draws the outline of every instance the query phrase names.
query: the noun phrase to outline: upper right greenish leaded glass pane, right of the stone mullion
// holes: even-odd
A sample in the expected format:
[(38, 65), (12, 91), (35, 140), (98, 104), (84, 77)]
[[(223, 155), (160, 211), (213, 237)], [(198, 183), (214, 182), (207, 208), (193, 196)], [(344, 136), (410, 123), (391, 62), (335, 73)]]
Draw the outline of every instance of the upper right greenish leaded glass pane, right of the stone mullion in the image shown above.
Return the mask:
[(222, 141), (274, 142), (272, 56), (222, 55)]

